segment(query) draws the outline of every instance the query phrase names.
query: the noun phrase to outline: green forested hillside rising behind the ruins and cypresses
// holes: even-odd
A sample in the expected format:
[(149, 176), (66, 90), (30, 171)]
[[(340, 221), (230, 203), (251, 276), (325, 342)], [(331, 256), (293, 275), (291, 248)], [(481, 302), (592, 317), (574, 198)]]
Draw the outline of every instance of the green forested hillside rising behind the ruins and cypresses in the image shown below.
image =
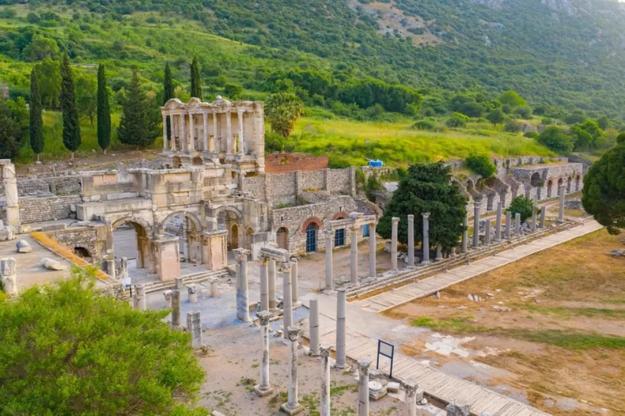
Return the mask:
[(205, 75), (249, 89), (302, 67), (441, 98), (514, 89), (534, 106), (611, 117), (625, 109), (625, 3), (616, 1), (23, 1), (0, 0), (10, 6), (0, 54), (16, 61), (34, 58), (24, 51), (39, 32), (74, 59), (143, 66), (154, 77), (165, 59), (197, 54)]

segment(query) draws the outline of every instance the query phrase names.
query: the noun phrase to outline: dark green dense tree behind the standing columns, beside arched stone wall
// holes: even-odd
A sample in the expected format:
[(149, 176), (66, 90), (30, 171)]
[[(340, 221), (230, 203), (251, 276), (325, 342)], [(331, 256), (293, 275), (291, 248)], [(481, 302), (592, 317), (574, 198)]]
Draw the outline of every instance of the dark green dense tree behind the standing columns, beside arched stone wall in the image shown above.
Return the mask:
[(399, 181), (377, 225), (382, 237), (391, 238), (391, 219), (399, 218), (397, 239), (408, 240), (407, 215), (414, 215), (414, 239), (423, 237), (422, 213), (429, 212), (429, 241), (447, 252), (456, 247), (466, 217), (466, 198), (451, 183), (451, 167), (442, 162), (414, 164)]

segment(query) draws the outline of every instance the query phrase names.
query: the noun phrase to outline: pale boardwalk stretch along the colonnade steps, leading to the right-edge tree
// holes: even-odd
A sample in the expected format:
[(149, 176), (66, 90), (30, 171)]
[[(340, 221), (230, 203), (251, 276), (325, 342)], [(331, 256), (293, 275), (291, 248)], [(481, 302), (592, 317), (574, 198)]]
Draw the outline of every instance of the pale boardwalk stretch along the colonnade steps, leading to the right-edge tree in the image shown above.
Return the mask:
[(544, 239), (534, 240), (527, 244), (519, 245), (493, 255), (492, 257), (477, 260), (472, 264), (457, 267), (456, 269), (434, 275), (421, 280), (420, 282), (407, 284), (402, 287), (398, 287), (397, 289), (392, 289), (388, 292), (384, 292), (364, 300), (357, 300), (352, 303), (360, 305), (362, 309), (369, 310), (371, 312), (384, 312), (385, 310), (412, 302), (412, 300), (435, 294), (439, 290), (443, 290), (451, 285), (471, 279), (472, 277), (476, 277), (516, 260), (527, 257), (528, 255), (548, 249), (549, 247), (553, 247), (557, 244), (562, 244), (563, 242), (575, 239), (581, 235), (588, 234), (589, 232), (593, 232), (601, 228), (602, 226), (598, 222), (590, 220), (587, 221), (586, 224), (577, 225), (577, 227), (564, 230), (557, 234), (549, 235)]

